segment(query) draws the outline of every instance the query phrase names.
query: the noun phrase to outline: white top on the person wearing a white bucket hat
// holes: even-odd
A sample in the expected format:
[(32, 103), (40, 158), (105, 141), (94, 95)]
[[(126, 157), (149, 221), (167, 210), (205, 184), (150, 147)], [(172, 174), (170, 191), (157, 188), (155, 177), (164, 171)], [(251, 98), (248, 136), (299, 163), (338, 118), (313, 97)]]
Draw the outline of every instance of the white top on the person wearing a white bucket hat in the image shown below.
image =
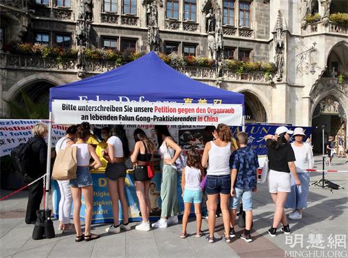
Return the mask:
[(292, 150), (295, 154), (296, 172), (306, 172), (307, 169), (313, 168), (314, 159), (312, 147), (308, 143), (303, 143), (301, 147), (291, 144)]

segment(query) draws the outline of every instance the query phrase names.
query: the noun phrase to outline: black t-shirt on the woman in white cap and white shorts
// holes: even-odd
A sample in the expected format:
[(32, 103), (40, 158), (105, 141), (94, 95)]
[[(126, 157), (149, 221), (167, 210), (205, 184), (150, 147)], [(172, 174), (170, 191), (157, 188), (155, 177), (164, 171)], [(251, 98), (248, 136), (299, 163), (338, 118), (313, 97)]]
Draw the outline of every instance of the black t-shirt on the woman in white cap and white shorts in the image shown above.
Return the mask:
[(266, 143), (269, 169), (276, 170), (278, 172), (290, 173), (290, 168), (287, 163), (290, 161), (296, 161), (294, 150), (292, 150), (290, 143), (280, 145), (278, 150), (270, 147), (273, 140), (268, 139)]

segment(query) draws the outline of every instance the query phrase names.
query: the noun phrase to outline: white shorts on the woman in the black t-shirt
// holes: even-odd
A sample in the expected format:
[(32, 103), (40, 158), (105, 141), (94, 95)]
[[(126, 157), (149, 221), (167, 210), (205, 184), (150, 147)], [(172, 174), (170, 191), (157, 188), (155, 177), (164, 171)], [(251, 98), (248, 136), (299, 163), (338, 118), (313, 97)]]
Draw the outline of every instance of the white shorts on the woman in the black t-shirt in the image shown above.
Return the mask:
[(269, 170), (268, 176), (269, 193), (291, 192), (290, 173)]

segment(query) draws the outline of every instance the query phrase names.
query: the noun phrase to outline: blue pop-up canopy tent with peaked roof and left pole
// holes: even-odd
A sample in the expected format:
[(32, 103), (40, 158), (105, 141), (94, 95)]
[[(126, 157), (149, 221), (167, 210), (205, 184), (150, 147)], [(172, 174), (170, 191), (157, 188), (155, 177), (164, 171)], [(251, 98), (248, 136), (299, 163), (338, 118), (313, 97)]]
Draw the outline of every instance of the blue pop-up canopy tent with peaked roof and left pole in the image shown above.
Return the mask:
[[(221, 104), (244, 106), (244, 95), (195, 81), (166, 65), (157, 54), (150, 52), (115, 70), (51, 88), (49, 121), (52, 121), (52, 103), (55, 100), (184, 103), (185, 99), (192, 99), (192, 103), (198, 103), (198, 99), (206, 99), (208, 104), (214, 104), (217, 99), (221, 100)], [(52, 145), (51, 129), (52, 122), (49, 123), (49, 147)], [(50, 154), (51, 152), (48, 152), (47, 155), (47, 191)], [(46, 202), (48, 209), (48, 198), (46, 198)]]

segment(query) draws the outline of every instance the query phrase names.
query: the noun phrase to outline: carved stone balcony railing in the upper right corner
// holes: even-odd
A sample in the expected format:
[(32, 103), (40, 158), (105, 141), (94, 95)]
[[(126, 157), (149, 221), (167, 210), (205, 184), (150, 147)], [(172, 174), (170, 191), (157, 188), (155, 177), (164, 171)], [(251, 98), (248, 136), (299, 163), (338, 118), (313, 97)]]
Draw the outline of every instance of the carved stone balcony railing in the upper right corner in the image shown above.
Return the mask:
[(323, 21), (314, 22), (312, 24), (307, 24), (306, 27), (302, 28), (302, 32), (305, 35), (311, 33), (342, 33), (348, 34), (347, 26), (338, 25), (334, 22), (325, 23)]

